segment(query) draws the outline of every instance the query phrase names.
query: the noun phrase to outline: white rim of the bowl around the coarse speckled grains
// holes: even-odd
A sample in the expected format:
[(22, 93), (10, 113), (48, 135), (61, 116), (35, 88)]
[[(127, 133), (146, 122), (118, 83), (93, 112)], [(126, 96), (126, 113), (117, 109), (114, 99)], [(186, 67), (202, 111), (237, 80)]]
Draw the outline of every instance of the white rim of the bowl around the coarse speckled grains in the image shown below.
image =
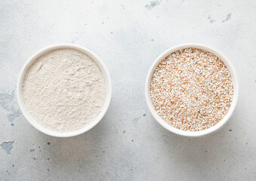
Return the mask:
[[(152, 75), (153, 75), (153, 72), (155, 71), (156, 67), (169, 54), (173, 53), (174, 51), (178, 51), (178, 50), (184, 49), (184, 48), (199, 48), (199, 49), (211, 52), (212, 54), (216, 55), (217, 57), (219, 57), (224, 62), (224, 64), (227, 66), (227, 69), (229, 69), (230, 74), (232, 76), (234, 94), (233, 94), (233, 101), (231, 103), (230, 109), (227, 112), (227, 115), (225, 115), (224, 118), (220, 122), (215, 124), (213, 127), (209, 127), (208, 129), (205, 129), (205, 130), (185, 131), (185, 130), (180, 130), (180, 129), (177, 129), (176, 127), (171, 126), (170, 124), (165, 122), (158, 115), (158, 113), (154, 109), (153, 103), (151, 101), (150, 82), (151, 82)], [(150, 112), (152, 113), (154, 118), (156, 118), (156, 121), (158, 121), (159, 124), (161, 124), (167, 130), (170, 130), (171, 132), (177, 133), (179, 135), (183, 135), (183, 136), (187, 136), (187, 137), (199, 137), (199, 136), (202, 136), (202, 135), (205, 135), (205, 134), (208, 134), (208, 133), (212, 133), (215, 130), (219, 129), (230, 118), (230, 116), (232, 115), (232, 113), (233, 113), (233, 111), (236, 107), (236, 102), (237, 102), (237, 99), (238, 99), (238, 82), (237, 82), (236, 73), (235, 73), (235, 70), (233, 69), (233, 66), (231, 66), (231, 64), (227, 60), (227, 58), (224, 57), (224, 55), (222, 55), (220, 52), (214, 50), (213, 48), (209, 48), (208, 46), (202, 45), (202, 44), (180, 44), (180, 45), (174, 46), (173, 48), (168, 49), (167, 51), (162, 53), (159, 57), (157, 57), (157, 59), (154, 61), (153, 65), (150, 67), (150, 71), (147, 74), (146, 85), (145, 85), (145, 94), (146, 94), (147, 106), (149, 106)]]

